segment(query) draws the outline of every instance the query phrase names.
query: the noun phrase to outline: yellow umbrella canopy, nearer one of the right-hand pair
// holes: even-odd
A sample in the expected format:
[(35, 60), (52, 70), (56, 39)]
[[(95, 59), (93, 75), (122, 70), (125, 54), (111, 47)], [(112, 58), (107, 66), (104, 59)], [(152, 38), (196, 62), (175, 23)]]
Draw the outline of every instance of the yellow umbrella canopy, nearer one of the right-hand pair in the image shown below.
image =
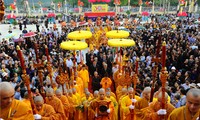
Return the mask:
[(135, 41), (131, 39), (111, 39), (108, 40), (108, 45), (111, 47), (131, 47), (135, 46)]

